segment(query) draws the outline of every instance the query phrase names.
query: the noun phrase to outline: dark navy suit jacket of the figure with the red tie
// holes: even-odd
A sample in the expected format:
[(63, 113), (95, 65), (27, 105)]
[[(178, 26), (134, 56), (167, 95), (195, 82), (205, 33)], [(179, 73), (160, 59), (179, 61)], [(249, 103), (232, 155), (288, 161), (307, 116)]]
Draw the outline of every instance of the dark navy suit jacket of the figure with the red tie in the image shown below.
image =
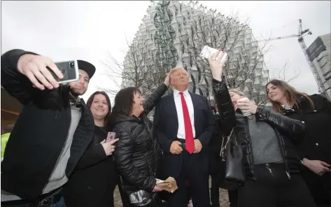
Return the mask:
[[(215, 127), (215, 118), (211, 113), (209, 102), (206, 97), (190, 93), (194, 114), (195, 114), (195, 138), (202, 143), (202, 151), (192, 154), (197, 164), (203, 170), (208, 171), (208, 147), (209, 141)], [(180, 155), (173, 155), (170, 146), (177, 140), (178, 117), (174, 100), (174, 93), (163, 97), (155, 107), (154, 125), (156, 129), (157, 141), (163, 151), (162, 174), (163, 176), (178, 177), (181, 173), (183, 162), (183, 152)]]

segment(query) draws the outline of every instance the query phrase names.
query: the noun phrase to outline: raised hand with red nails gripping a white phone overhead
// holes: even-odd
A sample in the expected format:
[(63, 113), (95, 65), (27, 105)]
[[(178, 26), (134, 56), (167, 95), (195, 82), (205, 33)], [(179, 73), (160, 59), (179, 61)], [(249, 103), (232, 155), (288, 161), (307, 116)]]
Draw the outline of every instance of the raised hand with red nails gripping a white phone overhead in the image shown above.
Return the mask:
[[(220, 54), (220, 50), (218, 50), (218, 52), (211, 55), (211, 57), (209, 57), (208, 59), (208, 62), (213, 79), (222, 81), (223, 66), (225, 62), (227, 62), (227, 58), (223, 59), (223, 55), (225, 55), (225, 52), (222, 52), (220, 57), (218, 57), (218, 54)], [(216, 59), (217, 57), (218, 59)]]

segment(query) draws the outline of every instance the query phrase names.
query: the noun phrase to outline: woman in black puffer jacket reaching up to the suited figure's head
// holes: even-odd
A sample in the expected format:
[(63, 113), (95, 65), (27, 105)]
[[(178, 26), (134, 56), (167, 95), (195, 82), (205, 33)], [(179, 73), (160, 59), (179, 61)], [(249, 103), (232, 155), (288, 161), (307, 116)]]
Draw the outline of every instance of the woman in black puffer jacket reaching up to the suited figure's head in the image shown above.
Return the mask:
[[(131, 198), (139, 193), (153, 198), (152, 202), (143, 206), (157, 206), (158, 201), (153, 192), (162, 190), (156, 186), (155, 180), (161, 150), (147, 115), (167, 91), (168, 85), (169, 76), (146, 100), (136, 87), (122, 89), (116, 94), (111, 113), (109, 129), (119, 138), (115, 143), (114, 157), (116, 169), (120, 173), (120, 185)], [(134, 201), (131, 204), (139, 206)]]

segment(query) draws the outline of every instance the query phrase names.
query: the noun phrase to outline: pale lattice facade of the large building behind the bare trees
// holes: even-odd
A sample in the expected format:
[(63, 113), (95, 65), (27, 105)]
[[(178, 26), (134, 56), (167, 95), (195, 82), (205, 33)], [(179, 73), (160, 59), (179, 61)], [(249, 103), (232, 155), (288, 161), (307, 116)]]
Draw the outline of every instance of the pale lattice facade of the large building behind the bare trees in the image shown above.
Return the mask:
[[(154, 69), (164, 69), (166, 73), (171, 68), (175, 66), (184, 67), (190, 74), (190, 92), (204, 95), (209, 98), (211, 104), (213, 104), (213, 96), (211, 93), (211, 76), (208, 73), (209, 69), (203, 59), (197, 58), (196, 55), (192, 55), (193, 52), (190, 51), (188, 42), (184, 41), (185, 36), (192, 34), (195, 36), (195, 32), (199, 32), (192, 29), (192, 24), (194, 21), (202, 20), (208, 21), (213, 17), (211, 15), (211, 10), (207, 10), (204, 6), (197, 6), (197, 2), (192, 1), (152, 1), (151, 6), (147, 10), (147, 15), (143, 17), (143, 23), (137, 31), (132, 45), (141, 45), (144, 48), (148, 57), (141, 58), (155, 59), (159, 67), (154, 67)], [(224, 16), (223, 16), (224, 17)], [(218, 17), (216, 22), (224, 22), (224, 24), (229, 21), (226, 17), (220, 19)], [(244, 27), (239, 22), (236, 23), (237, 27)], [(260, 53), (258, 47), (258, 42), (254, 40), (252, 31), (249, 27), (243, 30), (244, 35), (241, 36), (239, 40), (231, 41), (235, 44), (230, 48), (226, 45), (223, 50), (227, 51), (229, 56), (229, 64), (227, 66), (227, 82), (230, 87), (235, 87), (242, 90), (248, 94), (248, 97), (254, 97), (255, 102), (260, 102), (265, 98), (265, 85), (269, 81), (269, 71), (265, 69), (265, 64), (263, 61), (263, 55)], [(204, 44), (201, 42), (198, 36), (192, 38), (192, 41), (197, 43), (199, 50), (202, 49)], [(209, 41), (213, 41), (210, 39)], [(254, 67), (252, 74), (247, 74), (246, 78), (242, 78), (242, 73), (236, 75), (237, 66), (242, 66), (245, 64), (239, 54), (244, 50), (250, 50), (252, 54), (255, 54), (254, 62), (249, 63), (246, 67)], [(128, 54), (125, 57), (124, 64), (129, 64), (131, 61), (131, 56)], [(259, 57), (259, 58), (257, 58)], [(148, 62), (148, 61), (147, 61)], [(153, 68), (153, 67), (151, 67)], [(151, 69), (150, 73), (157, 73), (158, 71), (153, 71)], [(237, 85), (236, 83), (241, 81), (244, 84)], [(122, 79), (122, 87), (132, 86), (130, 80)], [(143, 90), (143, 89), (141, 89)]]

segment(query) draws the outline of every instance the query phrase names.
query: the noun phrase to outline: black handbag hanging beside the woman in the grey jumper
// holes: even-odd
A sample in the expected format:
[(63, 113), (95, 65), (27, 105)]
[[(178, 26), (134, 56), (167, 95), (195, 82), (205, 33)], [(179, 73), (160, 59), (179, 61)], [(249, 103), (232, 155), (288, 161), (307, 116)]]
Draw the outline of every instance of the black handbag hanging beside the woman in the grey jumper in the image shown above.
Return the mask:
[(220, 157), (222, 157), (222, 164), (225, 164), (225, 178), (219, 183), (219, 187), (226, 190), (236, 190), (239, 186), (245, 183), (245, 171), (243, 162), (243, 150), (238, 144), (235, 136), (232, 136), (232, 129), (227, 142), (220, 150)]

